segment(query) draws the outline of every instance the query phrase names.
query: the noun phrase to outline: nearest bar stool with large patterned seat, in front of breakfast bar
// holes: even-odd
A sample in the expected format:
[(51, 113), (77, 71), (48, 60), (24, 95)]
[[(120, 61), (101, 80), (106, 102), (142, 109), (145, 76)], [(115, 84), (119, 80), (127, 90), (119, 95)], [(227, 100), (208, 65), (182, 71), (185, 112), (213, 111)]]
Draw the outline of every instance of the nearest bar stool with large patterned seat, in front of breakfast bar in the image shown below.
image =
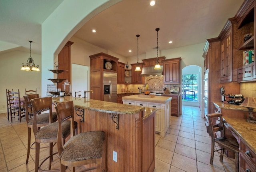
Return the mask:
[[(55, 106), (58, 117), (58, 139), (57, 147), (60, 156), (60, 171), (65, 172), (66, 166), (73, 167), (87, 164), (96, 164), (95, 167), (87, 168), (84, 171), (97, 169), (97, 172), (106, 171), (106, 146), (105, 132), (88, 131), (77, 135), (74, 125), (73, 101), (58, 103)], [(71, 121), (71, 138), (64, 144), (62, 142), (63, 123)]]

